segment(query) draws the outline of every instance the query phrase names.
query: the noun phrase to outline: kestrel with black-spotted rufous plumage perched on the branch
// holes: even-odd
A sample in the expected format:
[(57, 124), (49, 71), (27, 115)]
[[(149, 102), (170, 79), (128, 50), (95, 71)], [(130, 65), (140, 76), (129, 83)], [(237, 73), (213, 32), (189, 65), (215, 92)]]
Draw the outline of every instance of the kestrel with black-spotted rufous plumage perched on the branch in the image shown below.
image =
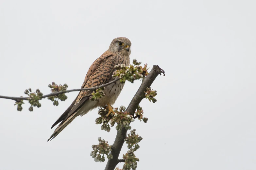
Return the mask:
[[(117, 78), (112, 78), (112, 74), (115, 71), (114, 66), (118, 64), (130, 64), (130, 47), (131, 42), (128, 38), (118, 37), (113, 39), (109, 49), (96, 59), (89, 68), (81, 88), (99, 86)], [(51, 129), (60, 123), (47, 141), (59, 135), (59, 133), (77, 116), (83, 116), (98, 106), (104, 107), (108, 105), (110, 110), (109, 114), (113, 112), (113, 107), (111, 105), (115, 103), (123, 87), (124, 83), (121, 83), (120, 81), (116, 81), (115, 83), (105, 86), (105, 90), (103, 92), (106, 95), (100, 98), (99, 101), (90, 100), (90, 96), (93, 91), (80, 91), (73, 103), (52, 125)]]

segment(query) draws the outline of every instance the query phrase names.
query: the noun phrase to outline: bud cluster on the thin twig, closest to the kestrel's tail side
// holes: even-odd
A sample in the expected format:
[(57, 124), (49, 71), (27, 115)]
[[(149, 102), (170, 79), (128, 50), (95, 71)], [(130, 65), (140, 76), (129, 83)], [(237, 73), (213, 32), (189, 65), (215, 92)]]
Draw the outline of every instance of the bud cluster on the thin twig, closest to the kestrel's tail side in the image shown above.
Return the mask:
[[(61, 92), (61, 91), (64, 92), (67, 90), (68, 85), (67, 84), (57, 85), (55, 82), (52, 82), (52, 84), (49, 84), (48, 87), (51, 88), (51, 92)], [(65, 93), (47, 97), (47, 99), (53, 102), (54, 106), (59, 105), (58, 99), (60, 99), (60, 101), (65, 101), (67, 98), (68, 96), (66, 96)]]

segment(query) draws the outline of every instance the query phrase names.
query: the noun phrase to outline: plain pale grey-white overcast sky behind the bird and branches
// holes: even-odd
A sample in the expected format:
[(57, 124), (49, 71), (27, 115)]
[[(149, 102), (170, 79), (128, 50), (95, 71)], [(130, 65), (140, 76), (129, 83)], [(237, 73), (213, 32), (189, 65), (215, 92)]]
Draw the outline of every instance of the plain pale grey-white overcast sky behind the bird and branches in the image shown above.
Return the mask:
[[(140, 104), (148, 122), (131, 124), (143, 137), (137, 169), (254, 170), (255, 16), (253, 0), (1, 0), (0, 95), (25, 96), (29, 87), (47, 94), (52, 81), (80, 88), (112, 39), (125, 36), (131, 61), (166, 72), (151, 86), (157, 103)], [(140, 84), (127, 82), (114, 106), (128, 106)], [(99, 136), (112, 144), (116, 130), (100, 130), (96, 109), (46, 142), (77, 93), (58, 107), (44, 99), (33, 112), (0, 99), (0, 169), (104, 169), (91, 146)]]

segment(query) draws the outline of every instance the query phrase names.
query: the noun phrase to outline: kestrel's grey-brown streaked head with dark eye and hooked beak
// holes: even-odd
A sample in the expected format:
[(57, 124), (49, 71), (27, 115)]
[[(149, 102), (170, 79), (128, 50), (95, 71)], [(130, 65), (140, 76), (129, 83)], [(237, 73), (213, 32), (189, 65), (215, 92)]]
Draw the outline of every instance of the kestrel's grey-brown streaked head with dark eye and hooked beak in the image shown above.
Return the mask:
[(131, 41), (126, 37), (118, 37), (113, 39), (109, 46), (109, 50), (112, 52), (122, 53), (124, 55), (130, 55), (131, 53)]

